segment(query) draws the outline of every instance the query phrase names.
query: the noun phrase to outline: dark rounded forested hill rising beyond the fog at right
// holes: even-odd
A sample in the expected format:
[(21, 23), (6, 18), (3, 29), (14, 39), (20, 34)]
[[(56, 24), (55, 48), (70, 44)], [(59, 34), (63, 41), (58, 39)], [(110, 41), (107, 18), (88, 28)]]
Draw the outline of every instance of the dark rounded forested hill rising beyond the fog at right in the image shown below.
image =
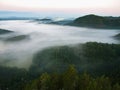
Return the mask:
[(90, 14), (75, 19), (71, 25), (92, 28), (120, 29), (120, 17), (102, 17)]

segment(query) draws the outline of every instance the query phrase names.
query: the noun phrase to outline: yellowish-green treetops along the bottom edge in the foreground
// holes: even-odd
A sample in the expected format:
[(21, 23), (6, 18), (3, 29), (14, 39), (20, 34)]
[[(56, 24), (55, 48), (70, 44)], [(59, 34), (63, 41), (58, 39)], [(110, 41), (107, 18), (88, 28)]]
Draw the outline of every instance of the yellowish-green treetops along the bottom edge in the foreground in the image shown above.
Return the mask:
[[(57, 78), (56, 78), (57, 77)], [(60, 78), (60, 79), (59, 79)], [(54, 83), (53, 83), (54, 82)], [(61, 82), (61, 83), (59, 83)], [(69, 66), (63, 74), (44, 73), (40, 78), (27, 84), (25, 90), (119, 90), (120, 85), (111, 84), (108, 77), (93, 78), (89, 74), (78, 74), (74, 66)], [(34, 88), (33, 88), (34, 86)]]

